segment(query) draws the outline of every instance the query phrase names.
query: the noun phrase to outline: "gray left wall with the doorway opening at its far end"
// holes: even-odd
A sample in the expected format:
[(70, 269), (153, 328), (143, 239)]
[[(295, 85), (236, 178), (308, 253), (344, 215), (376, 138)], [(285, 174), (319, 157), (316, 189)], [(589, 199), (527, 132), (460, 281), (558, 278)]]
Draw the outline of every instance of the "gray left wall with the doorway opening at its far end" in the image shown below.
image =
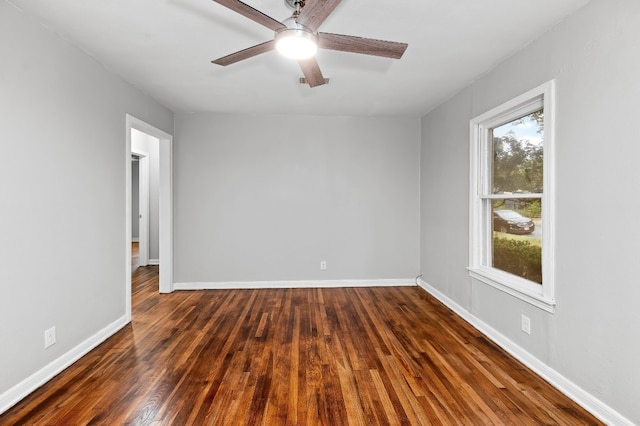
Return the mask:
[(2, 394), (125, 316), (125, 114), (173, 113), (4, 1), (0, 52)]

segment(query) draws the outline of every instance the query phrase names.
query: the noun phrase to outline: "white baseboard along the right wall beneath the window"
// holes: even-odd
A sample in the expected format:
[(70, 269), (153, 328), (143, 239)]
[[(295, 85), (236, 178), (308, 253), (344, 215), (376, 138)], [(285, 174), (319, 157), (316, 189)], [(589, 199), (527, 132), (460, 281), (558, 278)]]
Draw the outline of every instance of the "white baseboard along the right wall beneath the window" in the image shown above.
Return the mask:
[(562, 374), (558, 373), (556, 370), (540, 361), (538, 358), (531, 355), (529, 352), (527, 352), (526, 350), (515, 344), (512, 340), (507, 338), (505, 335), (500, 333), (498, 330), (491, 327), (481, 319), (477, 318), (462, 306), (458, 305), (455, 301), (450, 299), (435, 287), (429, 285), (422, 279), (418, 279), (418, 285), (433, 297), (438, 299), (440, 302), (445, 304), (460, 317), (462, 317), (478, 331), (495, 342), (502, 349), (515, 357), (518, 361), (529, 367), (536, 374), (551, 383), (551, 385), (553, 385), (556, 389), (564, 393), (576, 403), (580, 404), (582, 407), (584, 407), (585, 410), (589, 411), (601, 421), (609, 425), (634, 426), (634, 423), (624, 417), (622, 414), (618, 413), (613, 408), (609, 407), (607, 404), (591, 395), (590, 393), (573, 383), (571, 380), (567, 379)]

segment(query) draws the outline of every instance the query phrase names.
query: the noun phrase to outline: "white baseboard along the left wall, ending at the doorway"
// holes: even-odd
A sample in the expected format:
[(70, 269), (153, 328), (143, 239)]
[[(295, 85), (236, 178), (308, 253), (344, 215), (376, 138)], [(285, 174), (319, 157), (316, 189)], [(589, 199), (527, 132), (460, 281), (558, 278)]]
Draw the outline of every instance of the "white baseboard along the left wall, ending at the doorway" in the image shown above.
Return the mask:
[(0, 414), (13, 407), (24, 397), (29, 395), (40, 386), (58, 375), (65, 368), (82, 358), (89, 351), (94, 349), (100, 343), (113, 336), (118, 330), (127, 325), (129, 320), (126, 316), (118, 318), (93, 336), (89, 337), (78, 346), (63, 354), (59, 358), (51, 361), (48, 365), (36, 371), (17, 385), (13, 386), (2, 395), (0, 395)]

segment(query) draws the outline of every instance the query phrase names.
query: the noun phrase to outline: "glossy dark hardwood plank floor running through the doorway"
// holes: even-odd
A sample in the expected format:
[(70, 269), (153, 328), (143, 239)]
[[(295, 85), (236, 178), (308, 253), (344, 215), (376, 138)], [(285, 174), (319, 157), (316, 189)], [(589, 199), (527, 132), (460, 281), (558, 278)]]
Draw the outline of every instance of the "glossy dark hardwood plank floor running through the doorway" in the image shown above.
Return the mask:
[(158, 294), (1, 425), (600, 424), (418, 287)]

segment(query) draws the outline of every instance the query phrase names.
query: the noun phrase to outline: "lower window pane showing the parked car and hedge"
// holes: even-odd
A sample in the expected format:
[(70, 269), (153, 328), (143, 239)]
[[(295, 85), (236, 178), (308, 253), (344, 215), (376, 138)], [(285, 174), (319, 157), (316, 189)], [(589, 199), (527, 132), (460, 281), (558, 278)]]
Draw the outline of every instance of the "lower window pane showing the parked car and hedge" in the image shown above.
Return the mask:
[(492, 265), (542, 284), (542, 201), (487, 200), (491, 206)]

